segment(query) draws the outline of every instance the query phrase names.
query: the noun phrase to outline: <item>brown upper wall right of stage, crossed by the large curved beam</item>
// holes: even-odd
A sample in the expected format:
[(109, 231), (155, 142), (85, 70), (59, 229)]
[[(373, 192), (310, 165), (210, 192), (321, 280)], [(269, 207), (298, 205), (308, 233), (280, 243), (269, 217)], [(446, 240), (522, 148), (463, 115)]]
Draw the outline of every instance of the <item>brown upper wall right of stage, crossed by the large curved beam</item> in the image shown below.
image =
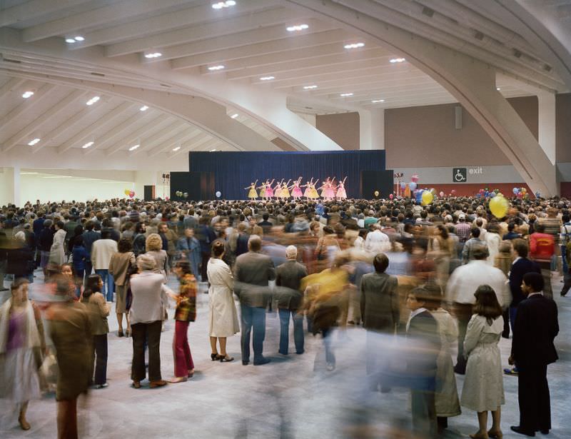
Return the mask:
[[(507, 101), (537, 138), (537, 98), (526, 96)], [(387, 167), (510, 164), (468, 111), (462, 111), (462, 128), (455, 128), (455, 106), (458, 105), (385, 110)]]

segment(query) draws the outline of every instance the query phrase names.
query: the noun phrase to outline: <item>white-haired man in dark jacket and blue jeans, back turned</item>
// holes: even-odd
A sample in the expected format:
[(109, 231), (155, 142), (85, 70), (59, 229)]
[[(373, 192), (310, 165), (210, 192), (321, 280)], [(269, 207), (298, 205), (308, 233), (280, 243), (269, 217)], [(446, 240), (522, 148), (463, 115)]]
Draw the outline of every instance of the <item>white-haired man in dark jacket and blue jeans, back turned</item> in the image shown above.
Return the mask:
[(298, 263), (298, 249), (295, 246), (285, 248), (285, 257), (288, 261), (276, 268), (276, 296), (280, 315), (279, 353), (288, 355), (291, 314), (295, 353), (301, 354), (303, 353), (303, 316), (298, 314), (298, 309), (303, 301), (303, 294), (300, 291), (300, 285), (301, 279), (308, 276), (308, 271), (303, 264)]

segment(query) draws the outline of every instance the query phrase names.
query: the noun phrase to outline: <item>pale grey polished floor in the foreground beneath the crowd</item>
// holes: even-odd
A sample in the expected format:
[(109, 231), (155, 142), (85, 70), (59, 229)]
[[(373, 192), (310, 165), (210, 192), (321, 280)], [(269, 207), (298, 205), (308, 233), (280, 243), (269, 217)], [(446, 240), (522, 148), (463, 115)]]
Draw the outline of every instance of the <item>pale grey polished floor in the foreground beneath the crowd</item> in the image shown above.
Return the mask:
[[(553, 286), (559, 307), (560, 334), (555, 341), (560, 360), (548, 370), (552, 431), (547, 437), (567, 439), (571, 438), (571, 298), (559, 297), (560, 278), (553, 279)], [(365, 330), (362, 328), (348, 328), (333, 335), (337, 368), (328, 372), (322, 342), (312, 335), (306, 336), (303, 355), (278, 354), (279, 321), (277, 317), (268, 317), (264, 353), (272, 362), (243, 366), (239, 335), (228, 339), (228, 353), (235, 361), (211, 361), (207, 311), (208, 295), (201, 293), (198, 318), (188, 330), (196, 365), (194, 377), (186, 383), (152, 390), (146, 382), (139, 390), (131, 388), (131, 339), (118, 338), (117, 322), (112, 315), (109, 318), (112, 332), (108, 335), (109, 386), (92, 390), (79, 400), (80, 437), (412, 438), (398, 434), (398, 430), (402, 432), (410, 427), (408, 391), (393, 388), (390, 393), (371, 393), (365, 388)], [(173, 373), (172, 338), (171, 320), (161, 339), (163, 378), (170, 378)], [(500, 348), (507, 365), (510, 340), (502, 339)], [(290, 352), (295, 352), (293, 336), (290, 336)], [(463, 377), (456, 377), (460, 391)], [(519, 419), (517, 378), (505, 376), (504, 385), (504, 437), (520, 437), (510, 431), (510, 425), (517, 424)], [(10, 405), (0, 403), (0, 438), (56, 437), (54, 395), (31, 401), (28, 412), (31, 430), (20, 430), (16, 417)], [(467, 438), (475, 430), (476, 413), (463, 409), (462, 415), (450, 418), (449, 429), (443, 437)], [(541, 436), (538, 433), (538, 437)]]

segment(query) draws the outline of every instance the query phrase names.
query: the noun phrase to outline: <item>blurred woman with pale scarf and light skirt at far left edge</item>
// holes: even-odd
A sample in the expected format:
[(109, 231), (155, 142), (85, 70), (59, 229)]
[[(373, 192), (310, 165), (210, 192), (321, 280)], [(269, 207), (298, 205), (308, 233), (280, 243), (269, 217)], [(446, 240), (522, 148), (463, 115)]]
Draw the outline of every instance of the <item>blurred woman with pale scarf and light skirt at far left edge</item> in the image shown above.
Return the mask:
[(0, 398), (19, 405), (22, 430), (28, 401), (41, 397), (38, 368), (46, 350), (44, 326), (39, 309), (28, 300), (28, 281), (19, 278), (11, 286), (11, 297), (0, 307)]

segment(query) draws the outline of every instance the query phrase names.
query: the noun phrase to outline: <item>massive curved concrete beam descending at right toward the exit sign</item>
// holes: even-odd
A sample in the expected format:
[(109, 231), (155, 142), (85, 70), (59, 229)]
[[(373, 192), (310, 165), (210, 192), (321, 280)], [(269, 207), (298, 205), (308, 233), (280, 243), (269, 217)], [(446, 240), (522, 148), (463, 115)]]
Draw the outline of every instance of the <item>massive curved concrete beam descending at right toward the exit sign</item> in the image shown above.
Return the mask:
[[(374, 39), (412, 62), (447, 89), (510, 159), (532, 191), (557, 193), (555, 166), (520, 116), (495, 89), (495, 70), (460, 51), (383, 21), (383, 7), (368, 0), (284, 0)], [(341, 4), (343, 3), (343, 4)]]

